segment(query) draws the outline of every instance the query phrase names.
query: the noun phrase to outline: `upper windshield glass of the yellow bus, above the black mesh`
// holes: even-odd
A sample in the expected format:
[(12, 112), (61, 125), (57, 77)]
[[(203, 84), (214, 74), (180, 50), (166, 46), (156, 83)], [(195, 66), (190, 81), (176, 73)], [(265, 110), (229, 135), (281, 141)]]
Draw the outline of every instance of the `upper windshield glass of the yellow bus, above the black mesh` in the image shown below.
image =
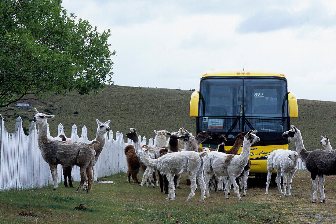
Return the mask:
[(203, 79), (200, 93), (200, 116), (288, 116), (282, 79), (245, 78), (244, 100), (242, 78)]

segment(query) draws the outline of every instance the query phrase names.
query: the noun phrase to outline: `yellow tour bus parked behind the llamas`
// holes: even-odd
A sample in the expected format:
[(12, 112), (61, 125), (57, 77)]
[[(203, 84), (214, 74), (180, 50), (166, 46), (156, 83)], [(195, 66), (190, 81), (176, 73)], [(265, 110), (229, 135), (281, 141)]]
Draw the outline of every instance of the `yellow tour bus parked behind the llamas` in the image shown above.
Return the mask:
[[(250, 174), (261, 177), (267, 174), (267, 156), (288, 149), (288, 140), (281, 135), (289, 130), (290, 117), (297, 117), (297, 100), (287, 91), (284, 74), (214, 69), (202, 75), (200, 91), (193, 92), (190, 116), (197, 117), (197, 134), (205, 130), (223, 134), (225, 150), (239, 133), (256, 129), (260, 142), (251, 146)], [(210, 140), (201, 146), (217, 148)]]

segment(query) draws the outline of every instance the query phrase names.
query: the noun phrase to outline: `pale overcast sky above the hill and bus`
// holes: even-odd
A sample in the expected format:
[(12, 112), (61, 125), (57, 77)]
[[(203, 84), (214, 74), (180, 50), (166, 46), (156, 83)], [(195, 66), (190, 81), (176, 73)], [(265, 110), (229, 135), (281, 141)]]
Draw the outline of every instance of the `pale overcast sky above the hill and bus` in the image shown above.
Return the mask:
[(210, 69), (283, 72), (298, 99), (336, 101), (336, 1), (64, 0), (108, 43), (117, 85), (199, 90)]

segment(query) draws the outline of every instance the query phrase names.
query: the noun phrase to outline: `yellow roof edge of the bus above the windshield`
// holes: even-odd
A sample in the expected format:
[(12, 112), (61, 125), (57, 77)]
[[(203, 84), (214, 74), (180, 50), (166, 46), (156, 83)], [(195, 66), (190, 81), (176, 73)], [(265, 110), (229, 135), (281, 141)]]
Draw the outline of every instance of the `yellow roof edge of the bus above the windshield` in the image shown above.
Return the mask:
[(283, 77), (286, 76), (282, 73), (274, 72), (274, 71), (249, 71), (249, 70), (236, 70), (236, 71), (225, 71), (220, 69), (212, 69), (203, 73), (202, 77), (213, 77), (213, 76), (272, 76), (272, 77)]

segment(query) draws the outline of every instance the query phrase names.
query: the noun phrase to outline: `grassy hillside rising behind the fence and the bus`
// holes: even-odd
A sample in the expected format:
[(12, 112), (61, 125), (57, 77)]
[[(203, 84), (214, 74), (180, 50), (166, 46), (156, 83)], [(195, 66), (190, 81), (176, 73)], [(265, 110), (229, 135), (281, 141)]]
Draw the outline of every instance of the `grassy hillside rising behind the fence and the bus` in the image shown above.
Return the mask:
[[(40, 112), (55, 115), (48, 121), (52, 136), (57, 135), (57, 126), (62, 123), (65, 134), (70, 137), (71, 127), (76, 124), (79, 136), (85, 125), (88, 138), (93, 139), (98, 118), (101, 122), (111, 120), (110, 127), (114, 133), (119, 130), (125, 135), (130, 127), (134, 127), (148, 140), (155, 136), (154, 129), (174, 132), (184, 127), (196, 133), (196, 118), (189, 117), (191, 94), (192, 91), (187, 90), (107, 85), (96, 96), (84, 97), (70, 92), (43, 100), (26, 98), (18, 103), (31, 103), (33, 109), (21, 110), (13, 105), (0, 108), (0, 113), (8, 121), (5, 121), (5, 126), (10, 133), (14, 131), (18, 115), (23, 119), (24, 128), (29, 130), (36, 107)], [(301, 130), (305, 147), (308, 150), (322, 149), (319, 144), (321, 135), (327, 135), (336, 149), (336, 102), (299, 99), (298, 109), (299, 117), (291, 118), (291, 124)], [(290, 149), (295, 149), (295, 145), (290, 144)]]

